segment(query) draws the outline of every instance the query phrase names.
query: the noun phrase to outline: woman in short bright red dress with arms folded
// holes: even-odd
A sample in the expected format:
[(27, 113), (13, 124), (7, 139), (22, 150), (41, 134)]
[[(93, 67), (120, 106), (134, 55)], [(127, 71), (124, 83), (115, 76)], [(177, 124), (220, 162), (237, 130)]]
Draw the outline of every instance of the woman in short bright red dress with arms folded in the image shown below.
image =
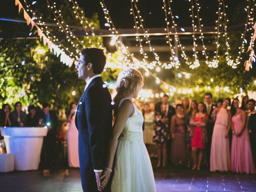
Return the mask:
[[(203, 102), (198, 103), (198, 112), (195, 116), (190, 118), (190, 125), (193, 126), (191, 137), (191, 147), (192, 147), (192, 158), (193, 158), (193, 167), (192, 170), (200, 170), (200, 164), (203, 156), (203, 149), (205, 148), (205, 143), (207, 142), (207, 133), (206, 133), (206, 122), (208, 116), (206, 113), (206, 107)], [(196, 152), (199, 150), (198, 155), (198, 165), (196, 165)]]

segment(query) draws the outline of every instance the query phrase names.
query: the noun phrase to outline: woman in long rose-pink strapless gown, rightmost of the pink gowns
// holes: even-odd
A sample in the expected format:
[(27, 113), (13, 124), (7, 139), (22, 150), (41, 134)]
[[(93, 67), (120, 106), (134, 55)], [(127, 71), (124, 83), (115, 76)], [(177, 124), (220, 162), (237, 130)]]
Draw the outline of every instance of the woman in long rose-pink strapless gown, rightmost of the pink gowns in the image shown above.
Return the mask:
[(233, 131), (231, 145), (231, 171), (237, 173), (255, 173), (254, 162), (248, 127), (246, 124), (246, 113), (239, 108), (239, 100), (234, 99), (231, 105)]

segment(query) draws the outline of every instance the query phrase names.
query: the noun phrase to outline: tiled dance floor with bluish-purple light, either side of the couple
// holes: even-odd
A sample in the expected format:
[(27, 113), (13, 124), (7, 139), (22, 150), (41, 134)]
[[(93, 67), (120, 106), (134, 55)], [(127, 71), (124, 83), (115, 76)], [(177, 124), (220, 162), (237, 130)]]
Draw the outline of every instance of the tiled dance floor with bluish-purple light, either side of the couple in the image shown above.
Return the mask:
[[(256, 192), (256, 175), (154, 168), (158, 192)], [(0, 173), (0, 192), (80, 192), (78, 169)]]

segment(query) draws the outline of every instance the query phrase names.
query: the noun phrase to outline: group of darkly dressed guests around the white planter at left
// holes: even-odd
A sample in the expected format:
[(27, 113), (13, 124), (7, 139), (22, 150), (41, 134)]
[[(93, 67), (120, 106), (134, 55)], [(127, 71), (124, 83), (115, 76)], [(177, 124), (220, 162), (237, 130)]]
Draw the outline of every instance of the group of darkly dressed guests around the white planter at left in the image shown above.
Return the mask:
[[(42, 110), (35, 106), (28, 107), (28, 114), (22, 111), (21, 102), (14, 104), (14, 110), (11, 112), (9, 104), (4, 104), (0, 110), (1, 127), (44, 127), (47, 126), (48, 133), (44, 137), (41, 162), (42, 168), (49, 167), (56, 163), (56, 135), (58, 118), (56, 112), (50, 110), (48, 103), (42, 104)], [(3, 136), (0, 133), (0, 140)]]

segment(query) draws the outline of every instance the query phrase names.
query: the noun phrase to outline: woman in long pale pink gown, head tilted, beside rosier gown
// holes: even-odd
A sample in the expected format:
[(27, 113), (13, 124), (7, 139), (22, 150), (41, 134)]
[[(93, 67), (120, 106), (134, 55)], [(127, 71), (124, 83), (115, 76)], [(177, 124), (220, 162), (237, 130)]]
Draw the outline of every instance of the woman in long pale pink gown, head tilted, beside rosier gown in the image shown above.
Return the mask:
[(218, 108), (216, 121), (212, 134), (212, 146), (210, 155), (210, 171), (230, 170), (230, 150), (228, 132), (231, 126), (231, 113), (227, 110), (230, 105), (230, 98), (223, 101), (221, 108)]

